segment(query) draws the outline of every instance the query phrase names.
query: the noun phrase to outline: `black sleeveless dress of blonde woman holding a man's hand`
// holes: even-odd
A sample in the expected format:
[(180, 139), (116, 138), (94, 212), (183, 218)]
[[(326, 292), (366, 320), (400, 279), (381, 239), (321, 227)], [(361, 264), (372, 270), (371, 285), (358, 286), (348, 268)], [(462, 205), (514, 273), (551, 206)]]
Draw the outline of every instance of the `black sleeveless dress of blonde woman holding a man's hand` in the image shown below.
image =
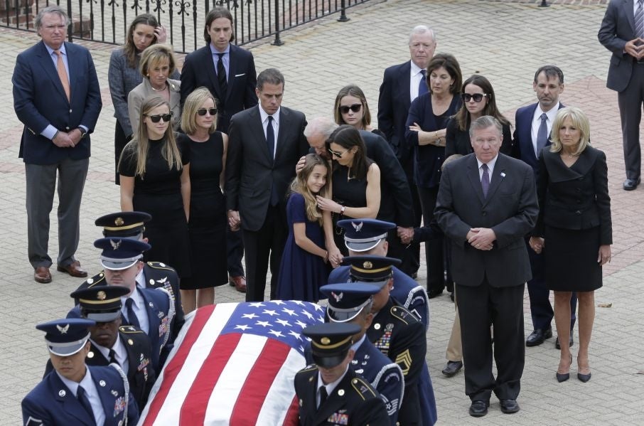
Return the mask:
[(221, 132), (205, 142), (179, 137), (190, 147), (190, 268), (182, 289), (216, 287), (228, 282), (226, 201), (219, 185), (224, 144)]

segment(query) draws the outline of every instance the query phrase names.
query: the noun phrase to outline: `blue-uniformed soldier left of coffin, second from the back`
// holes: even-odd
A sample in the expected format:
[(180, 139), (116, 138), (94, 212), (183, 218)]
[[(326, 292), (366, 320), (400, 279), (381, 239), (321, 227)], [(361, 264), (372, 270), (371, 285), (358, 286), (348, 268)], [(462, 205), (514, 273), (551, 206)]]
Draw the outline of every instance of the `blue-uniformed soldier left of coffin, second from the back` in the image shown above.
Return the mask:
[[(135, 326), (149, 336), (154, 371), (161, 371), (174, 341), (171, 333), (174, 299), (164, 287), (148, 289), (136, 285), (136, 277), (144, 265), (141, 262), (143, 252), (149, 250), (150, 245), (129, 238), (100, 238), (94, 245), (102, 249), (104, 272), (90, 285), (81, 284), (78, 290), (104, 285), (129, 289), (128, 294), (121, 297), (122, 324)], [(80, 307), (72, 309), (68, 316), (80, 317)]]

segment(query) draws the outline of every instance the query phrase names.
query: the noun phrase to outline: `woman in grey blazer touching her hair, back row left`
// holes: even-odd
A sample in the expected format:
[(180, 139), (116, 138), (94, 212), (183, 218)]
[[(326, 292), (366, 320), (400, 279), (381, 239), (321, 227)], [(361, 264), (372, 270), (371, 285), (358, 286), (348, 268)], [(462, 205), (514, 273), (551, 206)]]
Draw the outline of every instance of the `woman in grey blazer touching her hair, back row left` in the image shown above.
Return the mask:
[[(114, 117), (117, 119), (116, 129), (114, 129), (114, 164), (117, 169), (114, 181), (117, 185), (119, 184), (118, 165), (121, 151), (134, 136), (127, 112), (127, 95), (143, 80), (141, 73), (139, 73), (141, 52), (155, 43), (165, 42), (166, 28), (159, 25), (156, 16), (141, 14), (130, 23), (124, 46), (113, 50), (109, 57), (107, 81), (109, 95), (112, 97), (114, 105)], [(171, 77), (178, 80), (179, 73), (175, 71)]]

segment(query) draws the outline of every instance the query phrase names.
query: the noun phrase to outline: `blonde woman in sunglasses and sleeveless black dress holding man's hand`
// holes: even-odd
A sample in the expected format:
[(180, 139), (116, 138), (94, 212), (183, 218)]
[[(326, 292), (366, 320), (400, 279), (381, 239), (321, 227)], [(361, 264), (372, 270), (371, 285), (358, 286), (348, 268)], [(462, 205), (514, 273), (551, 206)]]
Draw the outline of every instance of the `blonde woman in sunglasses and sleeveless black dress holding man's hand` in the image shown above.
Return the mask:
[(222, 192), (228, 137), (218, 132), (217, 102), (199, 87), (183, 105), (178, 141), (190, 150), (190, 270), (181, 280), (184, 311), (215, 300), (215, 287), (228, 282), (226, 202)]

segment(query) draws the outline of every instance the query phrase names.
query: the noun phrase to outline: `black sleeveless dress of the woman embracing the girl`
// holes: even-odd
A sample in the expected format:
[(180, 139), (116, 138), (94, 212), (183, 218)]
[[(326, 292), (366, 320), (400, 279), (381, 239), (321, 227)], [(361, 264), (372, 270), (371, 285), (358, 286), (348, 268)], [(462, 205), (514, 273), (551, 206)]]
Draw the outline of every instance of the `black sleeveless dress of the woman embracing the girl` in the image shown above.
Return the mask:
[[(369, 165), (373, 162), (368, 159), (367, 161)], [(333, 170), (333, 174), (331, 175), (333, 181), (333, 201), (345, 207), (366, 207), (367, 176), (365, 176), (365, 179), (348, 178), (348, 172), (348, 167), (336, 164), (336, 169)], [(336, 226), (336, 223), (340, 219), (347, 218), (340, 218), (338, 213), (333, 213), (333, 240), (335, 240), (340, 252), (348, 256), (349, 251), (344, 244), (344, 230)]]

